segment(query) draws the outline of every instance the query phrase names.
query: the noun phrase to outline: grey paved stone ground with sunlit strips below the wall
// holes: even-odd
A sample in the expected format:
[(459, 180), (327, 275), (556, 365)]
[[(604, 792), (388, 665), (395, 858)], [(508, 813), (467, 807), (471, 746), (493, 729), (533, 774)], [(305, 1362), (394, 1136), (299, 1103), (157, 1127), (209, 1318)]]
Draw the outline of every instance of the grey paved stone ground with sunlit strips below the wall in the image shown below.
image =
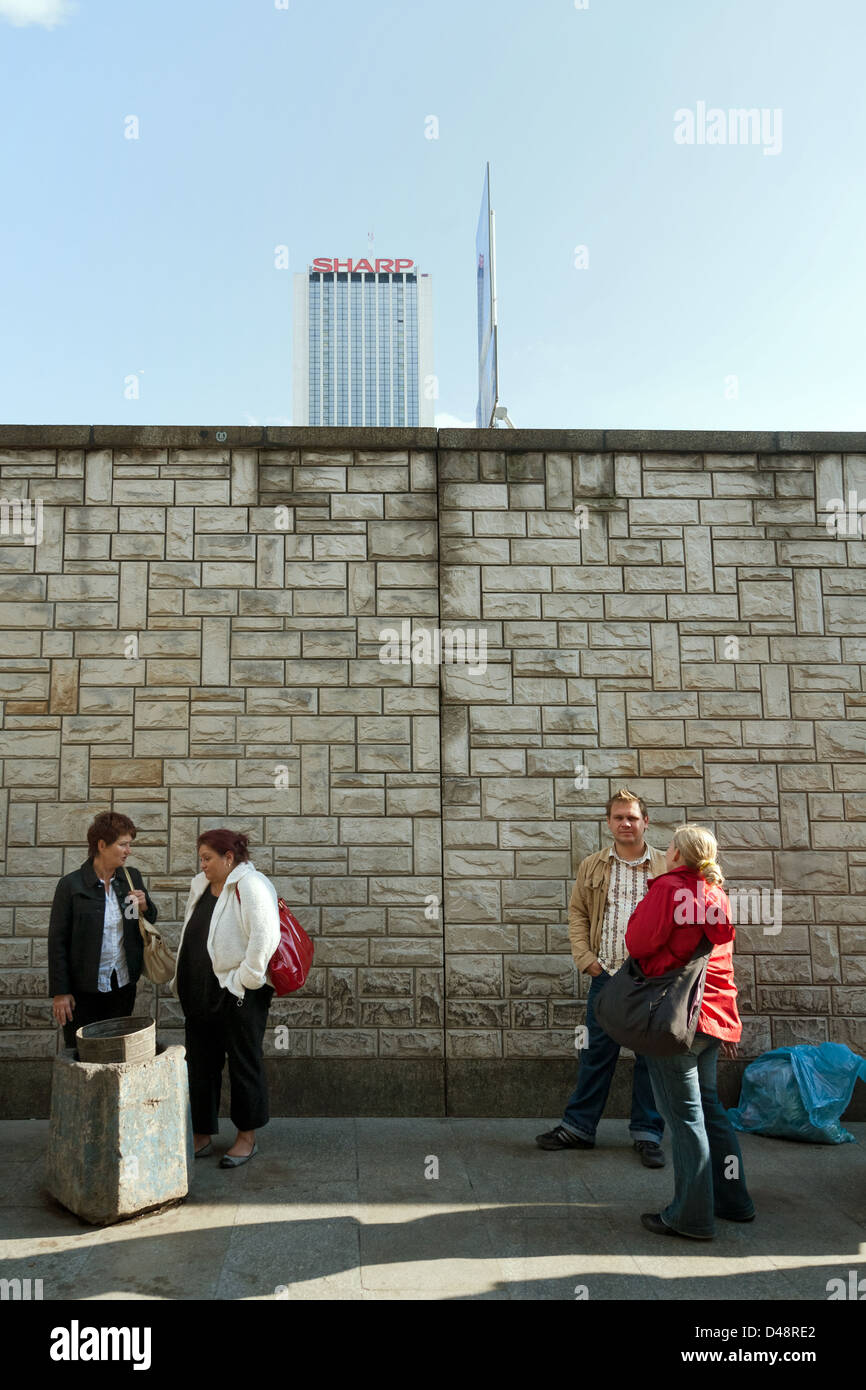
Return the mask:
[[(552, 1118), (553, 1120), (553, 1118)], [(671, 1166), (642, 1168), (624, 1120), (594, 1152), (546, 1154), (539, 1120), (279, 1119), (186, 1202), (107, 1229), (42, 1187), (47, 1120), (0, 1125), (3, 1277), (46, 1300), (827, 1300), (866, 1275), (866, 1125), (858, 1144), (742, 1136), (758, 1207), (713, 1243), (652, 1236)], [(218, 1150), (234, 1129), (222, 1125)], [(425, 1177), (431, 1158), (438, 1179)]]

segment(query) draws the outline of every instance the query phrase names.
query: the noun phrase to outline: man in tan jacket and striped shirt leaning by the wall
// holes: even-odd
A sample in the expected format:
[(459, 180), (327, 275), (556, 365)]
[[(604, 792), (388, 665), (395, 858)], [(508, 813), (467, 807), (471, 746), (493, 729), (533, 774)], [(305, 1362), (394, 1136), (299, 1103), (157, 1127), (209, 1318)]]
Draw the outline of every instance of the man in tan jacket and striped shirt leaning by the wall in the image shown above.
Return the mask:
[[(605, 810), (613, 845), (581, 860), (569, 902), (571, 955), (577, 969), (592, 976), (577, 1087), (560, 1123), (535, 1137), (539, 1148), (595, 1148), (595, 1131), (620, 1055), (619, 1042), (595, 1022), (595, 1001), (626, 959), (626, 927), (648, 880), (667, 872), (664, 852), (644, 840), (649, 816), (641, 796), (620, 787)], [(664, 1166), (659, 1145), (663, 1129), (646, 1059), (635, 1056), (628, 1133), (646, 1168)]]

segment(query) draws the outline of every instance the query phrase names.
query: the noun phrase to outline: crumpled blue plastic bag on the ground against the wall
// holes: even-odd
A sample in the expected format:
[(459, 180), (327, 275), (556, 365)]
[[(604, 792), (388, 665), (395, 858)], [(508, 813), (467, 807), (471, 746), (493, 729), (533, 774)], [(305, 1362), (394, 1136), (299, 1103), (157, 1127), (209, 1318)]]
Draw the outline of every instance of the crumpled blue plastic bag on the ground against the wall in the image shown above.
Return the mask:
[(728, 1111), (734, 1129), (809, 1144), (852, 1144), (840, 1125), (856, 1079), (866, 1081), (866, 1059), (842, 1042), (777, 1047), (749, 1062), (740, 1105)]

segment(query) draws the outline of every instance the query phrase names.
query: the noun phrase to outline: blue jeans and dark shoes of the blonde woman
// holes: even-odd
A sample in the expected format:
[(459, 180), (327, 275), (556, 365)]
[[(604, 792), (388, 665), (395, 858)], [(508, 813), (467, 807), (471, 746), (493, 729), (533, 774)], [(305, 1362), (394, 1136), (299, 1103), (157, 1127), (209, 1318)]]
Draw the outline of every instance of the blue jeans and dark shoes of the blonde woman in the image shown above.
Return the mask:
[(755, 1211), (740, 1144), (716, 1090), (719, 1047), (719, 1038), (695, 1033), (691, 1051), (648, 1058), (674, 1158), (674, 1198), (659, 1215), (684, 1236), (712, 1236), (713, 1213), (746, 1218)]

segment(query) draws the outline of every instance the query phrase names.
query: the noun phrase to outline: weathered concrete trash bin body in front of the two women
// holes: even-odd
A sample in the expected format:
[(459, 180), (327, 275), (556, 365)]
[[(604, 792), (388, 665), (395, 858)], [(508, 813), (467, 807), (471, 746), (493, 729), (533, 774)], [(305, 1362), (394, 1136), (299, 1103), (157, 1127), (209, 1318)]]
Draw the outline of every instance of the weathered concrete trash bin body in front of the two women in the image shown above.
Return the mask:
[(108, 1226), (178, 1201), (193, 1162), (182, 1047), (149, 1062), (54, 1058), (46, 1183), (71, 1212)]

